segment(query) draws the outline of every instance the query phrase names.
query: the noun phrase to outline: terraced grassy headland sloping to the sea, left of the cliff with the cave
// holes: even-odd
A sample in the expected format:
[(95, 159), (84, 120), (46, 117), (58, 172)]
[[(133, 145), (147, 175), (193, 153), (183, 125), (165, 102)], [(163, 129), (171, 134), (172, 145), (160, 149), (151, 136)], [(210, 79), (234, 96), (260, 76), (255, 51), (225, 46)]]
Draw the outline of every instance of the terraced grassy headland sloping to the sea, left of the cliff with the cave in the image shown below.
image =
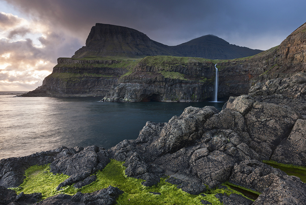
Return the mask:
[(109, 66), (118, 62), (59, 58), (43, 84), (24, 96), (104, 96), (127, 72), (125, 68)]

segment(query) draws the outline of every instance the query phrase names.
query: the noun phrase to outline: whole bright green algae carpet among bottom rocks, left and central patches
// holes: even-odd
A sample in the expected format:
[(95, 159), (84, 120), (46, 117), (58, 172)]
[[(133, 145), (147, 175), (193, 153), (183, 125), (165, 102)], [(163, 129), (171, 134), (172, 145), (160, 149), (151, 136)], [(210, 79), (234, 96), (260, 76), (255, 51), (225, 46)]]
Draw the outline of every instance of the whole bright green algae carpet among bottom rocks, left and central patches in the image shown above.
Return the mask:
[[(204, 193), (206, 196), (188, 194), (181, 189), (178, 189), (176, 185), (172, 185), (165, 181), (167, 178), (161, 178), (157, 185), (151, 187), (145, 187), (141, 184), (142, 179), (135, 179), (133, 177), (127, 177), (125, 175), (125, 167), (122, 165), (124, 162), (119, 162), (111, 159), (111, 162), (102, 170), (96, 172), (97, 180), (90, 185), (86, 185), (81, 189), (75, 189), (72, 185), (63, 187), (62, 190), (56, 190), (56, 187), (65, 181), (69, 176), (64, 174), (56, 174), (50, 172), (49, 165), (32, 166), (29, 167), (25, 176), (26, 179), (20, 185), (21, 188), (12, 188), (19, 194), (24, 192), (25, 194), (31, 194), (35, 192), (41, 192), (43, 199), (59, 194), (75, 194), (80, 191), (82, 193), (91, 193), (96, 190), (107, 188), (109, 185), (118, 187), (124, 191), (117, 200), (118, 204), (194, 204), (201, 205), (201, 200), (206, 200), (212, 204), (222, 204), (219, 199), (215, 197), (215, 194), (241, 194), (228, 186), (228, 190), (215, 189), (207, 190)], [(150, 192), (159, 192), (160, 194), (153, 194)]]

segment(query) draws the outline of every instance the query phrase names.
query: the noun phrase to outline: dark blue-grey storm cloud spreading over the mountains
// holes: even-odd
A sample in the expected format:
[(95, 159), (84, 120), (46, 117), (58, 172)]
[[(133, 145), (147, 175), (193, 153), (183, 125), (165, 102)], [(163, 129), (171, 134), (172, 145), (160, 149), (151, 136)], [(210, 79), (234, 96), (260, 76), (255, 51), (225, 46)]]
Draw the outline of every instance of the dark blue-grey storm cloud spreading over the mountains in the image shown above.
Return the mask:
[[(270, 1), (80, 1), (80, 0), (7, 0), (20, 11), (69, 30), (85, 42), (95, 23), (137, 29), (151, 39), (177, 45), (206, 34), (240, 42), (256, 41), (257, 36), (287, 37), (302, 25), (306, 2)], [(241, 39), (243, 42), (243, 39)], [(232, 42), (230, 42), (232, 43)], [(279, 42), (280, 43), (280, 42)], [(244, 45), (240, 45), (244, 46)], [(260, 49), (260, 48), (259, 48)]]

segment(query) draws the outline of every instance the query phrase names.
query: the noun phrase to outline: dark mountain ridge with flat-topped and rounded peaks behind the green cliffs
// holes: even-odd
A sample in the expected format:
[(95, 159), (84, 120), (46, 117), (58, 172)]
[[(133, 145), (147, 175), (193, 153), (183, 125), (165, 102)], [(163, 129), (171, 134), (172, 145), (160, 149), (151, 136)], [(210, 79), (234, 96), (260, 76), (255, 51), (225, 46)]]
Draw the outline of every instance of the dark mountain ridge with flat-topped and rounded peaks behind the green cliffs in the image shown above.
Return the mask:
[(86, 46), (77, 50), (73, 58), (85, 56), (123, 56), (142, 58), (151, 55), (200, 57), (207, 59), (235, 59), (260, 53), (229, 44), (214, 35), (206, 35), (177, 46), (167, 46), (151, 40), (133, 28), (99, 24), (91, 28)]

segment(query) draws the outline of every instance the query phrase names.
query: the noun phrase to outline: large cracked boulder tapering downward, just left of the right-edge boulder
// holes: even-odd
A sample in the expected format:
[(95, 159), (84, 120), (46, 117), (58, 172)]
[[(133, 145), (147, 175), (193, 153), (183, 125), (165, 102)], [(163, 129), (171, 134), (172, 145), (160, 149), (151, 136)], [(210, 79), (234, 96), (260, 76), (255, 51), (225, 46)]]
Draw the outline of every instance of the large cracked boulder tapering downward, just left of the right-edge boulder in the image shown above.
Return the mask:
[(290, 107), (266, 102), (254, 102), (245, 115), (248, 133), (253, 141), (250, 147), (261, 159), (269, 160), (274, 149), (286, 138), (300, 114)]

